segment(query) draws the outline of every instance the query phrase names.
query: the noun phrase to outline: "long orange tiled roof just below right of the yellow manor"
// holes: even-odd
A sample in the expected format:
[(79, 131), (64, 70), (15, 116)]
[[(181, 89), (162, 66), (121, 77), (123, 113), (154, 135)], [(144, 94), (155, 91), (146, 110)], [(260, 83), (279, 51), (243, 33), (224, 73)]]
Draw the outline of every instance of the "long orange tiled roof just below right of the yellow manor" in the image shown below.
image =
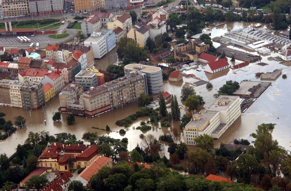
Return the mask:
[(108, 158), (106, 156), (98, 156), (97, 159), (92, 162), (87, 168), (85, 168), (82, 173), (80, 173), (75, 179), (78, 180), (79, 177), (85, 179), (87, 182), (90, 181), (90, 178), (98, 173), (98, 171), (109, 161), (111, 161), (111, 158)]

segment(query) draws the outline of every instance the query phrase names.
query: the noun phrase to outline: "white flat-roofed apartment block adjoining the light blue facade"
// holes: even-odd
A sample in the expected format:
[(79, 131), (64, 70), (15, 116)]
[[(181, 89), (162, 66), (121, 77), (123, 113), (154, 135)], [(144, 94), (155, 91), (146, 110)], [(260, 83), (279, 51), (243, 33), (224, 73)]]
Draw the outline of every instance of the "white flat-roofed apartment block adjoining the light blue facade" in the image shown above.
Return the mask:
[(106, 37), (100, 32), (93, 33), (84, 41), (84, 46), (92, 46), (94, 58), (102, 58), (107, 53)]

